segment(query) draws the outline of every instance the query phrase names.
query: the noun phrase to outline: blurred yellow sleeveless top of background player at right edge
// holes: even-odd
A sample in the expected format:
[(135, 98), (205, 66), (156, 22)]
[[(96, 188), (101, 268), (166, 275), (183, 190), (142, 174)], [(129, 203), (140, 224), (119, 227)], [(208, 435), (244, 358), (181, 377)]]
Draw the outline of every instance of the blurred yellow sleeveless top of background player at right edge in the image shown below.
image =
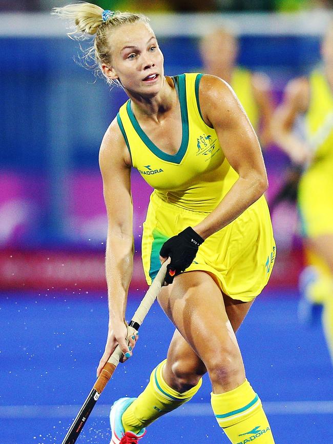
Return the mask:
[(305, 122), (307, 140), (315, 154), (314, 164), (321, 160), (333, 168), (333, 92), (320, 69), (311, 73), (309, 86), (310, 103)]

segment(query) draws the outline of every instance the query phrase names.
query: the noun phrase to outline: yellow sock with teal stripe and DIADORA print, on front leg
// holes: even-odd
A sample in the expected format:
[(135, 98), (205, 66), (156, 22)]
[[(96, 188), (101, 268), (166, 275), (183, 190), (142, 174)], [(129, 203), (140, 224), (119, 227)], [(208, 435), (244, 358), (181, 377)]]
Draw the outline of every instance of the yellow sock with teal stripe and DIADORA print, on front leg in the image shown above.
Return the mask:
[(219, 426), (233, 444), (274, 444), (259, 396), (247, 379), (230, 392), (212, 393), (212, 407)]

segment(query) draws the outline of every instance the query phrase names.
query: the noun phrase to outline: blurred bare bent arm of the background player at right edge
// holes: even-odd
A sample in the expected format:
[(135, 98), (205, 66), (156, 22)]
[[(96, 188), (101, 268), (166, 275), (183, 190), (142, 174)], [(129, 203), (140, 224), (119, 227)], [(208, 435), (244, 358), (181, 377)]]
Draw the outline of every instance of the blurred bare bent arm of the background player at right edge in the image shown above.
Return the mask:
[(306, 144), (294, 132), (298, 115), (306, 112), (309, 103), (309, 84), (306, 78), (288, 83), (281, 105), (272, 119), (272, 134), (276, 144), (288, 154), (294, 163), (303, 165), (309, 160)]

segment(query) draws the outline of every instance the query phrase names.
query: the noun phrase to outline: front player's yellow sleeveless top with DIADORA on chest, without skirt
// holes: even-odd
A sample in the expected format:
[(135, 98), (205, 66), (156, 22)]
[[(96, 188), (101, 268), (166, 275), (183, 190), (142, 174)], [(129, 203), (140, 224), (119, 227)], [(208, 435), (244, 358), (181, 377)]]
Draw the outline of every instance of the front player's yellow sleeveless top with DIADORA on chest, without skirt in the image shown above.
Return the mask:
[[(172, 77), (181, 109), (182, 139), (176, 154), (160, 150), (141, 129), (131, 100), (119, 110), (117, 122), (132, 165), (162, 200), (192, 211), (211, 212), (238, 178), (227, 162), (216, 132), (201, 116), (202, 74)], [(171, 129), (172, 130), (172, 129)]]

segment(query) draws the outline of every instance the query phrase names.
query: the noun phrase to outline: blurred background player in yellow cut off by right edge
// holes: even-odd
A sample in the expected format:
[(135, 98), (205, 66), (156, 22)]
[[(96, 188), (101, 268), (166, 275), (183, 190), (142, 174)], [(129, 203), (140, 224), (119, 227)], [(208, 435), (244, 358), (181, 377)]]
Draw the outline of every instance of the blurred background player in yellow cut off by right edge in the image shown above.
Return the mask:
[[(333, 358), (333, 24), (321, 44), (322, 61), (308, 77), (287, 84), (272, 122), (276, 143), (303, 172), (298, 206), (307, 266), (300, 275), (299, 314), (311, 320), (323, 305), (323, 328)], [(303, 137), (295, 132), (300, 118)]]

